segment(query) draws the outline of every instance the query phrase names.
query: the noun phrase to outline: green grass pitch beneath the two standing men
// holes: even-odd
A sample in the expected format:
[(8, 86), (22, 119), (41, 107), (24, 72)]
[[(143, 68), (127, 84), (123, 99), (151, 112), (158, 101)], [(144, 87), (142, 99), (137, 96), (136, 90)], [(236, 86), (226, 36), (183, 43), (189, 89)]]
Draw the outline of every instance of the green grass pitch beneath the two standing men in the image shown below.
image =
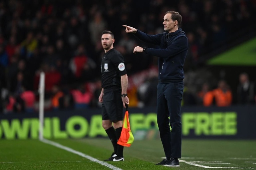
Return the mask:
[[(108, 139), (52, 140), (102, 161), (112, 153)], [(256, 169), (256, 140), (183, 139), (180, 167), (155, 165), (164, 156), (161, 141), (134, 141), (124, 148), (125, 161), (106, 162), (116, 169)], [(0, 169), (111, 169), (39, 140), (0, 140)]]

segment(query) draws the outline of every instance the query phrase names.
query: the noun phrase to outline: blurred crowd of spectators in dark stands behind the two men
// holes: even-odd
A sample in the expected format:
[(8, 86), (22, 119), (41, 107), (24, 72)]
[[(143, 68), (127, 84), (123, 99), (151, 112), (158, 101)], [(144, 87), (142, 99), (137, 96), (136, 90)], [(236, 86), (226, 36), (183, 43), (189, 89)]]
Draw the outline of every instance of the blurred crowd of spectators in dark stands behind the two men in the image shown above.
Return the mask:
[[(114, 33), (114, 48), (125, 58), (130, 105), (153, 106), (157, 59), (144, 53), (134, 55), (135, 46), (149, 45), (126, 34), (122, 24), (149, 34), (162, 33), (164, 13), (178, 11), (189, 39), (184, 70), (191, 77), (203, 67), (202, 56), (254, 28), (255, 9), (255, 0), (2, 0), (0, 113), (35, 112), (42, 71), (46, 109), (99, 107), (103, 30)], [(242, 73), (237, 92), (230, 91), (225, 80), (214, 84), (204, 79), (197, 89), (185, 80), (183, 105), (230, 106), (232, 93), (241, 94), (237, 103), (255, 104), (254, 83), (245, 79), (249, 77)]]

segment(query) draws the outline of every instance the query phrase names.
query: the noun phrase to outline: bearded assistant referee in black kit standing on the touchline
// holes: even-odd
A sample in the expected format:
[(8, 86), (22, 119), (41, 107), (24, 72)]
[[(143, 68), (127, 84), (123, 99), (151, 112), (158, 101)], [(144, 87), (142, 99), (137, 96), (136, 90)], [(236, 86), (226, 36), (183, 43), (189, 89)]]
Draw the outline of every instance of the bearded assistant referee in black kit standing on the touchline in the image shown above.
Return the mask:
[[(101, 86), (99, 102), (102, 103), (102, 126), (112, 142), (114, 152), (105, 161), (123, 161), (124, 147), (117, 144), (122, 131), (123, 107), (127, 97), (128, 76), (124, 57), (114, 49), (114, 34), (103, 31), (101, 44), (105, 51), (101, 61)], [(104, 96), (104, 98), (103, 98)]]

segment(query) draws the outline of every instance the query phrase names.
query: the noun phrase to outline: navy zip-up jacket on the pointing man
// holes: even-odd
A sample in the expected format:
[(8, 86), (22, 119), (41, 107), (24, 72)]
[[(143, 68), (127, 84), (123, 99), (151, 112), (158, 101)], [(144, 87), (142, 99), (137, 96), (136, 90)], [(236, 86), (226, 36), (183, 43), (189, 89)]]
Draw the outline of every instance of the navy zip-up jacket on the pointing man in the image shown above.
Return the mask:
[(149, 35), (137, 29), (134, 35), (144, 42), (159, 46), (158, 49), (147, 48), (145, 53), (158, 57), (160, 83), (183, 81), (183, 65), (188, 52), (188, 38), (181, 28), (175, 32), (156, 35)]

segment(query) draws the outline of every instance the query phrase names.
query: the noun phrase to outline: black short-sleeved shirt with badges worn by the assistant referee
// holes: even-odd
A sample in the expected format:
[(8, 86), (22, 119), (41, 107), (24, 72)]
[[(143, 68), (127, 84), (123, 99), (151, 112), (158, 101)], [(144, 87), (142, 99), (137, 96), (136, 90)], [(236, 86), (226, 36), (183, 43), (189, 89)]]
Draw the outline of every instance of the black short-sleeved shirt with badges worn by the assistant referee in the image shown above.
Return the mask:
[(125, 74), (126, 69), (122, 54), (115, 49), (105, 53), (101, 60), (102, 88), (121, 88), (121, 76)]

